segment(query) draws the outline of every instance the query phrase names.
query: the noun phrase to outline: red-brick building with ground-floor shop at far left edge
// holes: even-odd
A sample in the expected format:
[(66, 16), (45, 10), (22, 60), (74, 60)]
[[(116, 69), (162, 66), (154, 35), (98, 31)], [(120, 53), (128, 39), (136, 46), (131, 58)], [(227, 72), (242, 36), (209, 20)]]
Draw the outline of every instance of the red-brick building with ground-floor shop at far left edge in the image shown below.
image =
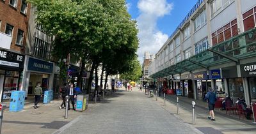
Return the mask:
[(30, 5), (25, 0), (0, 1), (0, 100), (19, 90), (25, 61)]

